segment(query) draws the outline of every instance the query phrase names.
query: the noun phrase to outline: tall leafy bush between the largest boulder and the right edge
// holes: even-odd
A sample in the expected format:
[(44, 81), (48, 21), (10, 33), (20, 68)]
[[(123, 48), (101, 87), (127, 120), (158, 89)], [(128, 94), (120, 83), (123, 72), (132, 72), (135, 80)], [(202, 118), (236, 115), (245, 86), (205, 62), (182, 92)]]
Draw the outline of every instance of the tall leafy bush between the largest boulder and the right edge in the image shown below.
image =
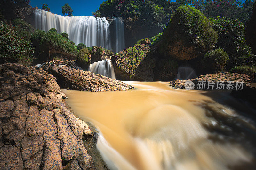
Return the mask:
[(217, 47), (223, 48), (229, 56), (228, 68), (237, 65), (253, 65), (255, 56), (245, 40), (244, 24), (238, 20), (227, 20), (223, 17), (210, 18), (212, 27), (218, 32)]

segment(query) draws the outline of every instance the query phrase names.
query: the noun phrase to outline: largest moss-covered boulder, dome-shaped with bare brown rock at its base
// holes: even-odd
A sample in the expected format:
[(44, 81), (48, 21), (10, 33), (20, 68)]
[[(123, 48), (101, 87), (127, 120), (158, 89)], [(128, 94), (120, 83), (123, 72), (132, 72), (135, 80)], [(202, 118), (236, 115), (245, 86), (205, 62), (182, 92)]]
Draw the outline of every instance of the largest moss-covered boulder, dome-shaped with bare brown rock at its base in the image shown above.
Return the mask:
[(177, 61), (204, 55), (217, 43), (217, 32), (204, 14), (191, 6), (180, 6), (161, 35), (159, 57)]

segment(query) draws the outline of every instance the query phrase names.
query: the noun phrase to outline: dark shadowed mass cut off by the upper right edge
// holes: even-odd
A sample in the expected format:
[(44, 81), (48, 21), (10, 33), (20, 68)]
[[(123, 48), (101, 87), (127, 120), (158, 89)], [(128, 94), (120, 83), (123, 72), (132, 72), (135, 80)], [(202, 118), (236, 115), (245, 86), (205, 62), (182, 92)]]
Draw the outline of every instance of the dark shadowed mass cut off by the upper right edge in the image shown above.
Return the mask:
[(256, 54), (256, 1), (253, 4), (252, 17), (246, 24), (245, 38), (251, 46), (253, 53)]

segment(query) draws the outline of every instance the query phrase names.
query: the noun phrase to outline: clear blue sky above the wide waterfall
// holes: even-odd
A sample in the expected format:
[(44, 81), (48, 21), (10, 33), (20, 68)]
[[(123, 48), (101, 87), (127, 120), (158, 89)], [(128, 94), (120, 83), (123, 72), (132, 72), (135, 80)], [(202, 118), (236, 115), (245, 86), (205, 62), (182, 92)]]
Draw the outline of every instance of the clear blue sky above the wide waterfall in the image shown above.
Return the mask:
[(103, 0), (30, 0), (30, 5), (32, 7), (37, 5), (38, 9), (42, 9), (42, 3), (44, 3), (48, 5), (52, 13), (63, 15), (61, 7), (68, 3), (73, 10), (73, 16), (92, 16), (92, 12), (99, 9), (102, 2)]

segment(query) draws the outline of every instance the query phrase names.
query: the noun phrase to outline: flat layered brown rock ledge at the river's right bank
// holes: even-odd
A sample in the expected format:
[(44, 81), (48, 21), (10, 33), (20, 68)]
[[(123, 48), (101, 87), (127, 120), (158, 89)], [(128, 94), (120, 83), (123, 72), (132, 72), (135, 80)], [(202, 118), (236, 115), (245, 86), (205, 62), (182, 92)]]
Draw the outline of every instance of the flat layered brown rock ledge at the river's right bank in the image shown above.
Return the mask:
[[(170, 86), (172, 86), (175, 89), (185, 89), (185, 85), (186, 85), (186, 81), (188, 80), (173, 80), (170, 82)], [(224, 82), (223, 84), (227, 84), (228, 82), (238, 82), (241, 83), (242, 81), (243, 86), (244, 87), (251, 87), (251, 85), (248, 83), (250, 81), (250, 76), (245, 75), (245, 74), (239, 74), (239, 73), (228, 73), (228, 72), (216, 72), (214, 74), (206, 74), (206, 75), (201, 75), (195, 79), (191, 79), (190, 81), (192, 81), (195, 84), (194, 89), (196, 89), (196, 87), (198, 87), (198, 82), (202, 82), (202, 81), (208, 81), (209, 82), (214, 82), (214, 89), (217, 88), (217, 83), (216, 82)], [(205, 85), (205, 87), (207, 87), (207, 84)], [(235, 84), (234, 84), (235, 86)], [(234, 87), (233, 87), (234, 88)]]

